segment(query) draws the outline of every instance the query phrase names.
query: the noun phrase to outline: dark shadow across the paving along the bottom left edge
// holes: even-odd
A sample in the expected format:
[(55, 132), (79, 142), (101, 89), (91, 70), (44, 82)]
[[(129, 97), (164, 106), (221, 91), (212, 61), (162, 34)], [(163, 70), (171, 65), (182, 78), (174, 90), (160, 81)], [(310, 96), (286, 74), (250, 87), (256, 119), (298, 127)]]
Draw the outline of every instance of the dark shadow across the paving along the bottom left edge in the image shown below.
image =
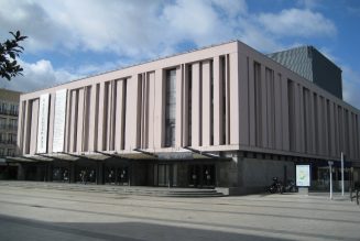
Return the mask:
[(146, 222), (45, 222), (0, 215), (0, 240), (285, 241), (288, 239)]

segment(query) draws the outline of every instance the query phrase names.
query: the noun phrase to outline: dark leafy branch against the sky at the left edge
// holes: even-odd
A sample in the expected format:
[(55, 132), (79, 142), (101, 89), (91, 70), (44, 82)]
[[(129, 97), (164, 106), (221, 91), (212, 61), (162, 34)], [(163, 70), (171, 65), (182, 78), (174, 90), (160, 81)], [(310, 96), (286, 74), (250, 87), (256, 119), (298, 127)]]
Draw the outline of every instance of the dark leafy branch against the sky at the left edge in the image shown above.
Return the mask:
[(17, 33), (10, 32), (10, 34), (13, 36), (13, 40), (0, 43), (0, 76), (8, 80), (11, 80), (17, 75), (22, 75), (23, 68), (17, 62), (17, 57), (24, 48), (19, 45), (19, 42), (28, 37), (22, 36), (20, 31), (17, 31)]

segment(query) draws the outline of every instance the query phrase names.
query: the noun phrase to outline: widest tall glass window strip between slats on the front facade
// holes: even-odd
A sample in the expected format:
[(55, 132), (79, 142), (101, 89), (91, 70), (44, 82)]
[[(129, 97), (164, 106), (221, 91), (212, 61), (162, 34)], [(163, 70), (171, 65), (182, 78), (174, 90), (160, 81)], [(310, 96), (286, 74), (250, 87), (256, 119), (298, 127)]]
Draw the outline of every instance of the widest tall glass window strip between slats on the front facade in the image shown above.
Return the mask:
[(165, 147), (175, 146), (176, 69), (166, 72)]

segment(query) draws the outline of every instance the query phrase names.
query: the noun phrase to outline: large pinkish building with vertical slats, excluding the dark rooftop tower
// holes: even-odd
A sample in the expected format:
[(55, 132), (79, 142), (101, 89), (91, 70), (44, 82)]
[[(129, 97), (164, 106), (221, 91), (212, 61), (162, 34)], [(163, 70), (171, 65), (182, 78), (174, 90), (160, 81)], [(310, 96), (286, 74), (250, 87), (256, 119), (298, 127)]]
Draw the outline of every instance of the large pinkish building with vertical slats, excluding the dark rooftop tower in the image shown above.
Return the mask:
[(308, 163), (321, 188), (341, 152), (359, 178), (359, 110), (234, 41), (21, 95), (8, 161), (20, 179), (230, 194)]

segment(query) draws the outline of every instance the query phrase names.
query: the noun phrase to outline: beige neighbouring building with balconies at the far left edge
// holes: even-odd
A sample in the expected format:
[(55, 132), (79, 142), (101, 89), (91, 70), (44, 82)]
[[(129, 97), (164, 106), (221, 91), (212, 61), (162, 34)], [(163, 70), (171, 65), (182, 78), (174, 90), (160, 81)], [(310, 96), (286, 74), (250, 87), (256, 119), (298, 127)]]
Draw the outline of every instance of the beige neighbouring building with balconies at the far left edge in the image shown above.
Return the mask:
[(8, 172), (4, 161), (6, 156), (14, 156), (17, 151), (20, 95), (18, 91), (0, 89), (0, 179), (13, 176)]

